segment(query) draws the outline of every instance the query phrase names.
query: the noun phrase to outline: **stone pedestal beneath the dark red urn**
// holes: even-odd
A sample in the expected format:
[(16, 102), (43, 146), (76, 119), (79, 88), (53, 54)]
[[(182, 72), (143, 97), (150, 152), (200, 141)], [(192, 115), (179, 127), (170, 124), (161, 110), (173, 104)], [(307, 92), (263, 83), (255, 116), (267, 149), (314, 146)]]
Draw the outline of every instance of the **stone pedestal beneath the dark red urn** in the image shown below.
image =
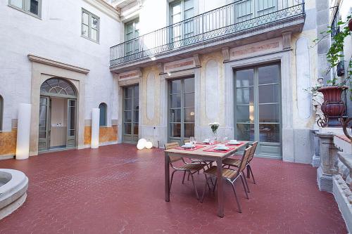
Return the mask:
[(320, 166), (317, 170), (317, 181), (320, 191), (332, 192), (332, 176), (337, 174), (337, 148), (334, 145), (334, 134), (318, 133)]

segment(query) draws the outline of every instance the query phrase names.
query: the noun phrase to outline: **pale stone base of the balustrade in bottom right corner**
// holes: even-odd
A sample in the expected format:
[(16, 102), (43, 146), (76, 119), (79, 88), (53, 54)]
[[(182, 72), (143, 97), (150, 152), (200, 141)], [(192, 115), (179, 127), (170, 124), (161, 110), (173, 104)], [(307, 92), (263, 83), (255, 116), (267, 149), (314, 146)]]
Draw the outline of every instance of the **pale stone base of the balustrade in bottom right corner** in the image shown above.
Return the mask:
[[(341, 176), (339, 177), (341, 178)], [(348, 197), (346, 197), (346, 193), (344, 193), (343, 188), (336, 179), (333, 180), (333, 193), (335, 200), (339, 205), (342, 217), (344, 217), (347, 230), (349, 233), (352, 233), (352, 204), (348, 200)]]

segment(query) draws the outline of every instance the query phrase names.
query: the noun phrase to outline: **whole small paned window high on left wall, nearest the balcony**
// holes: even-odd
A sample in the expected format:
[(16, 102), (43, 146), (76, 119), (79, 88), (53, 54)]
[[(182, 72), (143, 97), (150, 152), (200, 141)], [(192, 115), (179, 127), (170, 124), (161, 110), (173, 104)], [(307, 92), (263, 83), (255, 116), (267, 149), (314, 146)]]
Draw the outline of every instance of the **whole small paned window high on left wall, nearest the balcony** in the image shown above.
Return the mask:
[(82, 37), (99, 42), (99, 22), (98, 16), (82, 9)]

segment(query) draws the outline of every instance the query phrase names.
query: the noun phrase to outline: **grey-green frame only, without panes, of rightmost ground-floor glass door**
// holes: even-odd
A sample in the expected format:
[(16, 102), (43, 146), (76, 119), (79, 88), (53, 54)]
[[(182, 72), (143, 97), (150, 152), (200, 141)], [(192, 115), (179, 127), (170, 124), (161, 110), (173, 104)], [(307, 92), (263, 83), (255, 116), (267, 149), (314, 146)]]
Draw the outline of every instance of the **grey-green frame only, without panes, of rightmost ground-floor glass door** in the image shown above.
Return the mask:
[[(254, 98), (254, 103), (253, 103), (253, 108), (254, 108), (254, 141), (258, 141), (258, 150), (260, 150), (260, 146), (262, 143), (259, 141), (260, 139), (260, 121), (259, 121), (259, 84), (258, 84), (258, 77), (259, 77), (259, 67), (266, 67), (270, 65), (278, 65), (279, 67), (279, 143), (269, 143), (269, 142), (264, 142), (263, 145), (273, 145), (273, 146), (279, 146), (279, 155), (268, 155), (268, 154), (258, 154), (262, 157), (279, 157), (282, 158), (282, 74), (281, 74), (281, 64), (278, 62), (273, 62), (273, 63), (260, 63), (258, 65), (249, 65), (249, 66), (244, 66), (244, 67), (239, 67), (237, 69), (233, 70), (233, 93), (234, 93), (234, 98), (236, 97), (237, 94), (237, 86), (236, 86), (236, 71), (238, 70), (246, 70), (246, 69), (253, 69), (253, 98)], [(234, 138), (237, 138), (237, 113), (236, 113), (236, 106), (237, 106), (237, 101), (235, 100), (233, 102), (233, 108), (234, 108), (234, 115), (233, 115), (233, 120), (234, 120)], [(263, 123), (262, 123), (263, 124)], [(240, 140), (240, 139), (239, 139)], [(266, 143), (266, 144), (265, 144)]]

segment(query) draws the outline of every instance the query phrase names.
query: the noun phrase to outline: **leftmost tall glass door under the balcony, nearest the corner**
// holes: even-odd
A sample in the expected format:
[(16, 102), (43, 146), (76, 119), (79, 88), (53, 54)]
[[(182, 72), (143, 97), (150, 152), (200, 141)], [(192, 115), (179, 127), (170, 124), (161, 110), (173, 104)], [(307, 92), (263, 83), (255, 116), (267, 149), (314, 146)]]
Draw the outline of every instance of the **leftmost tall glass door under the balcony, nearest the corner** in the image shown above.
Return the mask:
[(123, 113), (122, 132), (123, 142), (137, 143), (139, 126), (139, 85), (126, 86), (122, 91)]

